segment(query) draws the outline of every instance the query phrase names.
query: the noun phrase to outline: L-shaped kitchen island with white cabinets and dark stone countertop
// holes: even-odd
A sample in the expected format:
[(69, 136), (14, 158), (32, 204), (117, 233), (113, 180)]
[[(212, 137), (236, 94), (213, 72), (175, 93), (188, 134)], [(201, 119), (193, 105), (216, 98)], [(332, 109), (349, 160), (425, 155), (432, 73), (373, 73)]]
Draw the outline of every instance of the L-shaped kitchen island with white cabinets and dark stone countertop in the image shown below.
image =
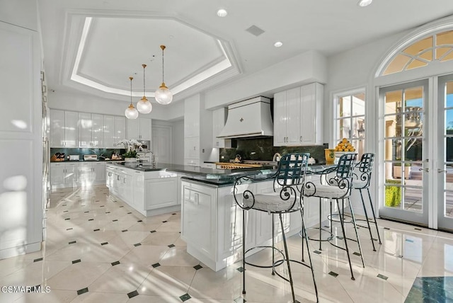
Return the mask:
[[(241, 258), (242, 210), (233, 196), (235, 179), (252, 175), (265, 179), (275, 172), (273, 166), (219, 170), (178, 164), (108, 164), (107, 186), (144, 216), (181, 210), (181, 239), (188, 253), (217, 271)], [(236, 194), (247, 189), (271, 193), (273, 180), (242, 184)], [(307, 226), (318, 222), (319, 200), (305, 199), (304, 218)], [(301, 220), (299, 212), (285, 214), (285, 234), (299, 233)], [(273, 224), (275, 240), (280, 241), (277, 219), (265, 212), (247, 212), (246, 249), (269, 245)]]

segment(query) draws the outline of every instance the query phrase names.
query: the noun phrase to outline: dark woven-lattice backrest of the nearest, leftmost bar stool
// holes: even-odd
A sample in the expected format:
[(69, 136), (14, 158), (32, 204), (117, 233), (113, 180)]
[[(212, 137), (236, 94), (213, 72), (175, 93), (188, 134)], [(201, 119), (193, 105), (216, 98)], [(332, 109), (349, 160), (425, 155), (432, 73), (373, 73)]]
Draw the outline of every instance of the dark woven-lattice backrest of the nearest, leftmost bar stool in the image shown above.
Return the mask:
[(275, 182), (280, 186), (302, 185), (310, 154), (284, 154), (278, 164)]

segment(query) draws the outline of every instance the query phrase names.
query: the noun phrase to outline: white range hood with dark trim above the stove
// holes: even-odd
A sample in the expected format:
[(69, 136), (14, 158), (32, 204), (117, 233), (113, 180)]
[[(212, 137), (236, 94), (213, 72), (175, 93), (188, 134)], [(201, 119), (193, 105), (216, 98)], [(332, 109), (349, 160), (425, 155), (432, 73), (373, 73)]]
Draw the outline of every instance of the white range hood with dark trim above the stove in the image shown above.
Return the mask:
[(273, 135), (270, 99), (260, 96), (229, 105), (228, 118), (217, 138), (236, 139)]

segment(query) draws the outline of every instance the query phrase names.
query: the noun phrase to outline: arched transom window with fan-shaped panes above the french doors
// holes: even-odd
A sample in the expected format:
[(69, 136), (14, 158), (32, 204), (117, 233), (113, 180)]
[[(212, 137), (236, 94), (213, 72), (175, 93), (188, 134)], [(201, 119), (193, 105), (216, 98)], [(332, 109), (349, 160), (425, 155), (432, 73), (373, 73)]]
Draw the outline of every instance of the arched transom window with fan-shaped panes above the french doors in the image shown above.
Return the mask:
[(435, 60), (444, 62), (453, 59), (453, 30), (430, 35), (413, 42), (398, 52), (387, 64), (382, 75), (425, 67)]

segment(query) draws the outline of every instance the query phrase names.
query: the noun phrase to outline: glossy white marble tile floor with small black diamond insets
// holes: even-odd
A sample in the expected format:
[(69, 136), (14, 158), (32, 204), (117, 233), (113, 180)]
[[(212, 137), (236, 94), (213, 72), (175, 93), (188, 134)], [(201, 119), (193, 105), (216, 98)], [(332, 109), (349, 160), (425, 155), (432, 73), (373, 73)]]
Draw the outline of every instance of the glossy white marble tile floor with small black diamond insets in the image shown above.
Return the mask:
[[(109, 196), (104, 185), (52, 192), (46, 217), (42, 251), (0, 260), (0, 285), (49, 286), (50, 293), (0, 293), (0, 303), (292, 301), (288, 282), (271, 275), (270, 268), (250, 265), (242, 295), (241, 261), (216, 273), (190, 256), (180, 239), (180, 212), (144, 217)], [(378, 224), (382, 244), (374, 241), (376, 251), (368, 229), (357, 229), (365, 268), (357, 242), (348, 240), (355, 280), (345, 251), (326, 242), (319, 251), (319, 243), (309, 241), (320, 302), (404, 302), (415, 278), (453, 276), (453, 234), (382, 219)], [(355, 239), (352, 224), (345, 228)], [(333, 231), (342, 235), (338, 224)], [(374, 226), (372, 232), (377, 238)], [(287, 239), (290, 258), (302, 258), (301, 241), (298, 235)], [(277, 247), (283, 248), (282, 242)], [(247, 260), (269, 263), (270, 250)], [(316, 302), (311, 270), (291, 266), (296, 299)], [(286, 264), (277, 271), (287, 275)]]

